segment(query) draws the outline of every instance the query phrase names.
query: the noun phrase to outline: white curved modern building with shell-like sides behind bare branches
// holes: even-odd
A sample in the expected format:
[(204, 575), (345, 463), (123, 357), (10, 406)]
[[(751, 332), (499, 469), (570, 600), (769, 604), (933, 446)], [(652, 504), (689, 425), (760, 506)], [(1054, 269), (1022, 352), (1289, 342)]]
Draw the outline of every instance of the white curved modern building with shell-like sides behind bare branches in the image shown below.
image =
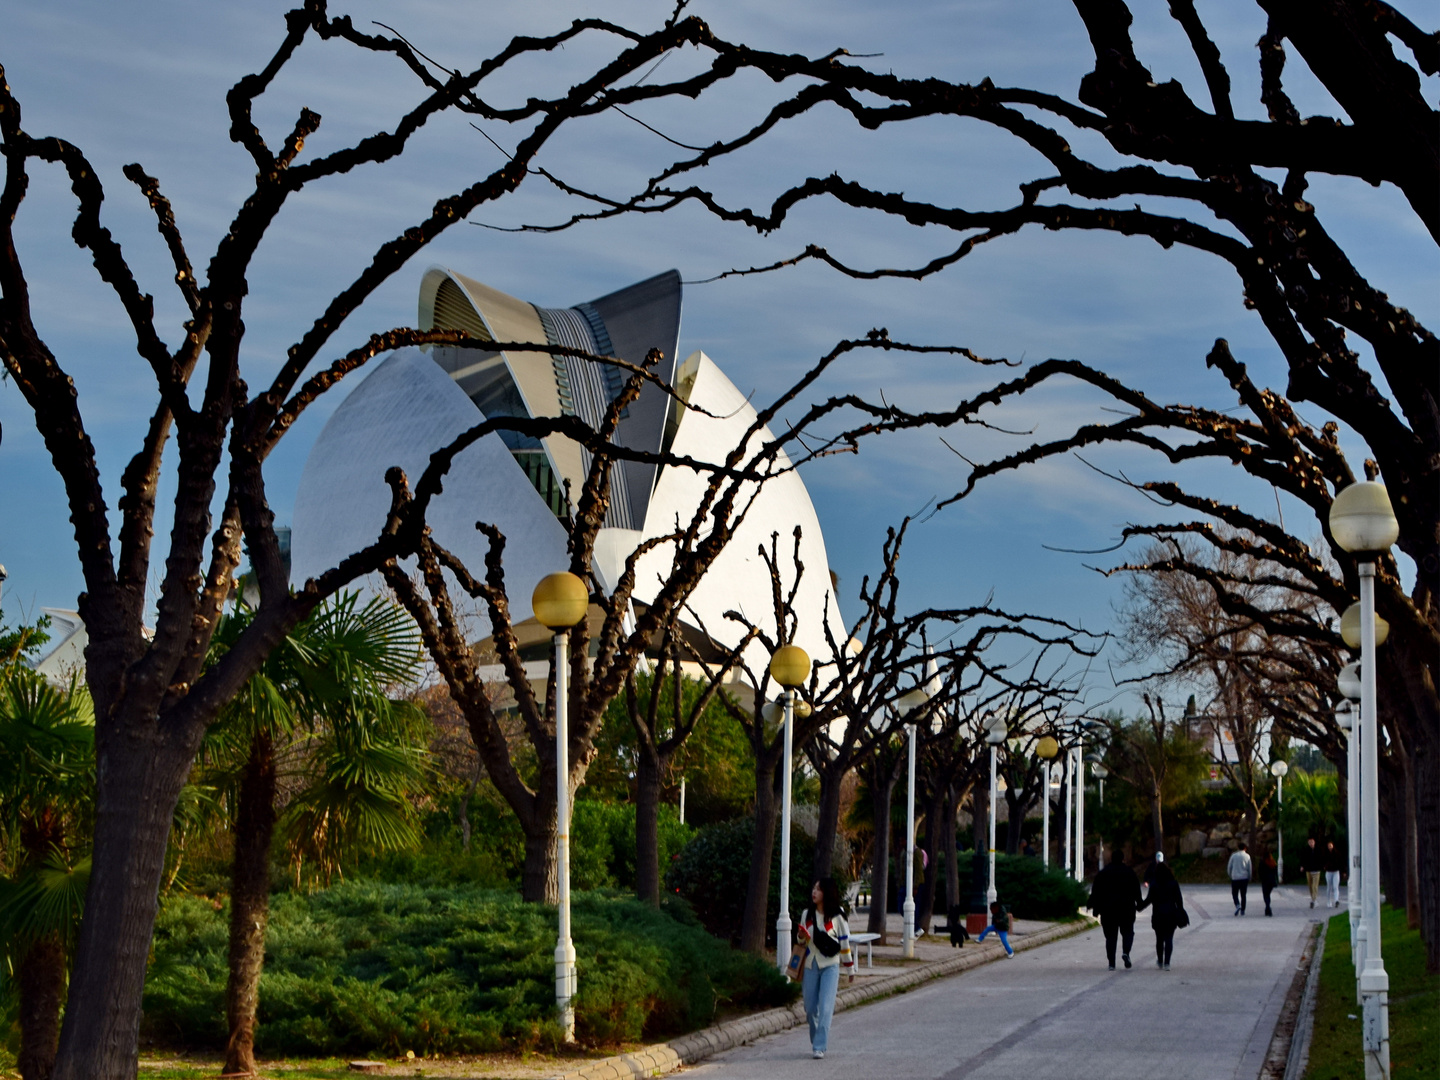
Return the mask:
[[(464, 330), (501, 343), (582, 348), (641, 363), (651, 348), (664, 360), (660, 379), (675, 387), (677, 402), (647, 384), (619, 422), (624, 446), (672, 451), (703, 462), (721, 462), (756, 419), (750, 402), (704, 353), (675, 363), (680, 346), (681, 282), (661, 274), (588, 304), (541, 308), (448, 269), (432, 268), (420, 282), (422, 330)], [(487, 416), (575, 415), (592, 426), (624, 386), (615, 366), (537, 351), (480, 351), (431, 347), (397, 350), (354, 387), (315, 441), (295, 498), (292, 580), (334, 566), (373, 541), (389, 507), (384, 472), (399, 465), (413, 485), (429, 455)], [(753, 445), (770, 438), (762, 429)], [(436, 540), (474, 572), (484, 567), (487, 539), (475, 521), (494, 524), (505, 537), (505, 590), (524, 639), (533, 622), (530, 592), (544, 575), (564, 569), (566, 536), (559, 517), (570, 511), (566, 484), (579, 494), (589, 465), (586, 451), (563, 438), (534, 439), (491, 433), (456, 456), (428, 521)], [(776, 462), (789, 469), (783, 455)], [(651, 537), (670, 534), (677, 518), (688, 523), (708, 477), (690, 468), (618, 462), (605, 528), (596, 541), (595, 570), (613, 589), (625, 559)], [(809, 494), (795, 471), (785, 471), (753, 492), (743, 524), (690, 599), (684, 622), (719, 645), (734, 644), (742, 628), (724, 618), (740, 611), (772, 626), (770, 580), (757, 549), (779, 534), (782, 567), (789, 570), (795, 526), (802, 530), (805, 573), (795, 602), (796, 644), (825, 660), (828, 618), (837, 641), (845, 628), (834, 600), (825, 541)], [(672, 553), (660, 546), (638, 563), (635, 602), (654, 599)], [(472, 612), (474, 634), (488, 634)], [(759, 671), (768, 657), (747, 658)]]

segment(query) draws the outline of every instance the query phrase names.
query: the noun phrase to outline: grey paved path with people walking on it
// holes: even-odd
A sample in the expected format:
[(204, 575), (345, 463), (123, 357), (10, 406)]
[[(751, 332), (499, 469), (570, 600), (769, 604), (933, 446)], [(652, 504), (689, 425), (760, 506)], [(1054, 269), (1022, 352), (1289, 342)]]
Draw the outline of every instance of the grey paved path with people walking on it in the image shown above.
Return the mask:
[[(829, 1051), (811, 1060), (801, 1027), (687, 1070), (696, 1080), (1253, 1080), (1295, 975), (1310, 910), (1303, 887), (1259, 888), (1236, 919), (1230, 890), (1185, 888), (1191, 924), (1171, 971), (1155, 966), (1149, 913), (1135, 968), (1106, 969), (1099, 929), (1014, 960), (835, 1017)], [(969, 946), (966, 946), (969, 948)]]

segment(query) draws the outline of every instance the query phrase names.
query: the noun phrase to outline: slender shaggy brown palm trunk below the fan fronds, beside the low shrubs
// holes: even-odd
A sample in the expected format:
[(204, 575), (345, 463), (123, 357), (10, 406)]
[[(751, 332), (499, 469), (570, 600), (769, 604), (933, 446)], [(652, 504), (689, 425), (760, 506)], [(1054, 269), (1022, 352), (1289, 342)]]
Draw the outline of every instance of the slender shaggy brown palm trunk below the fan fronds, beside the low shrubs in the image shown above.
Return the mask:
[(255, 1022), (265, 968), (269, 922), (269, 845), (275, 832), (275, 742), (268, 732), (251, 739), (235, 814), (230, 868), (230, 973), (225, 985), (226, 1074), (255, 1071)]

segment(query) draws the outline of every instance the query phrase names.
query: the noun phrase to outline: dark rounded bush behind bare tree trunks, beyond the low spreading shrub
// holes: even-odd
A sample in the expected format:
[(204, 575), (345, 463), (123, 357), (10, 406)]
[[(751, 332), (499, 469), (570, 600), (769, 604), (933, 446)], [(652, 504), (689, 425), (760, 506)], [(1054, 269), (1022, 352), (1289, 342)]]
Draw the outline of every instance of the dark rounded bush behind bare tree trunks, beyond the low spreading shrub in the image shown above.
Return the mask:
[[(717, 937), (739, 942), (744, 917), (744, 893), (750, 880), (750, 851), (755, 848), (755, 818), (736, 818), (701, 829), (671, 861), (665, 887), (680, 896)], [(799, 913), (809, 904), (814, 884), (815, 838), (798, 825), (791, 827), (791, 909)], [(841, 893), (848, 881), (837, 878)], [(770, 858), (770, 897), (765, 924), (775, 926), (780, 914), (780, 844), (776, 837)]]

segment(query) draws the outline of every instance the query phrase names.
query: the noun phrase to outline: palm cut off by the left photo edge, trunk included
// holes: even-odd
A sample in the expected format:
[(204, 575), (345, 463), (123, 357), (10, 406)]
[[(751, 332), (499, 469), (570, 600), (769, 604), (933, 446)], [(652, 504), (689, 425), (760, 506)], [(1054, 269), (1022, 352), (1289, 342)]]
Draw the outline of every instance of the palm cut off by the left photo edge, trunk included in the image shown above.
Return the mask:
[(19, 996), (24, 1080), (55, 1066), (60, 1004), (89, 881), (95, 711), (81, 683), (0, 674), (0, 994)]

